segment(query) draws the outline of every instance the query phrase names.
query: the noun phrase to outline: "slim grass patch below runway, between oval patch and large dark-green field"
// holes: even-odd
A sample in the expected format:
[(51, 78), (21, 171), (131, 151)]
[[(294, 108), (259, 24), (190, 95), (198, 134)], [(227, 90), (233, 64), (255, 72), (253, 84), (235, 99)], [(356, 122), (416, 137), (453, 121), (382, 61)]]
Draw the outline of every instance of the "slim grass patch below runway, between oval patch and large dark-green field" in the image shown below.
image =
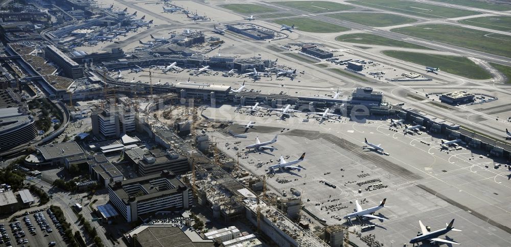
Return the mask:
[(350, 43), (357, 43), (357, 44), (376, 44), (376, 45), (386, 45), (386, 46), (394, 46), (394, 47), (402, 47), (402, 48), (413, 48), (413, 49), (425, 49), (425, 50), (431, 50), (428, 47), (408, 43), (405, 41), (395, 40), (395, 39), (389, 39), (382, 36), (374, 35), (374, 34), (344, 34), (337, 36), (335, 38), (337, 41), (342, 42), (350, 42)]

